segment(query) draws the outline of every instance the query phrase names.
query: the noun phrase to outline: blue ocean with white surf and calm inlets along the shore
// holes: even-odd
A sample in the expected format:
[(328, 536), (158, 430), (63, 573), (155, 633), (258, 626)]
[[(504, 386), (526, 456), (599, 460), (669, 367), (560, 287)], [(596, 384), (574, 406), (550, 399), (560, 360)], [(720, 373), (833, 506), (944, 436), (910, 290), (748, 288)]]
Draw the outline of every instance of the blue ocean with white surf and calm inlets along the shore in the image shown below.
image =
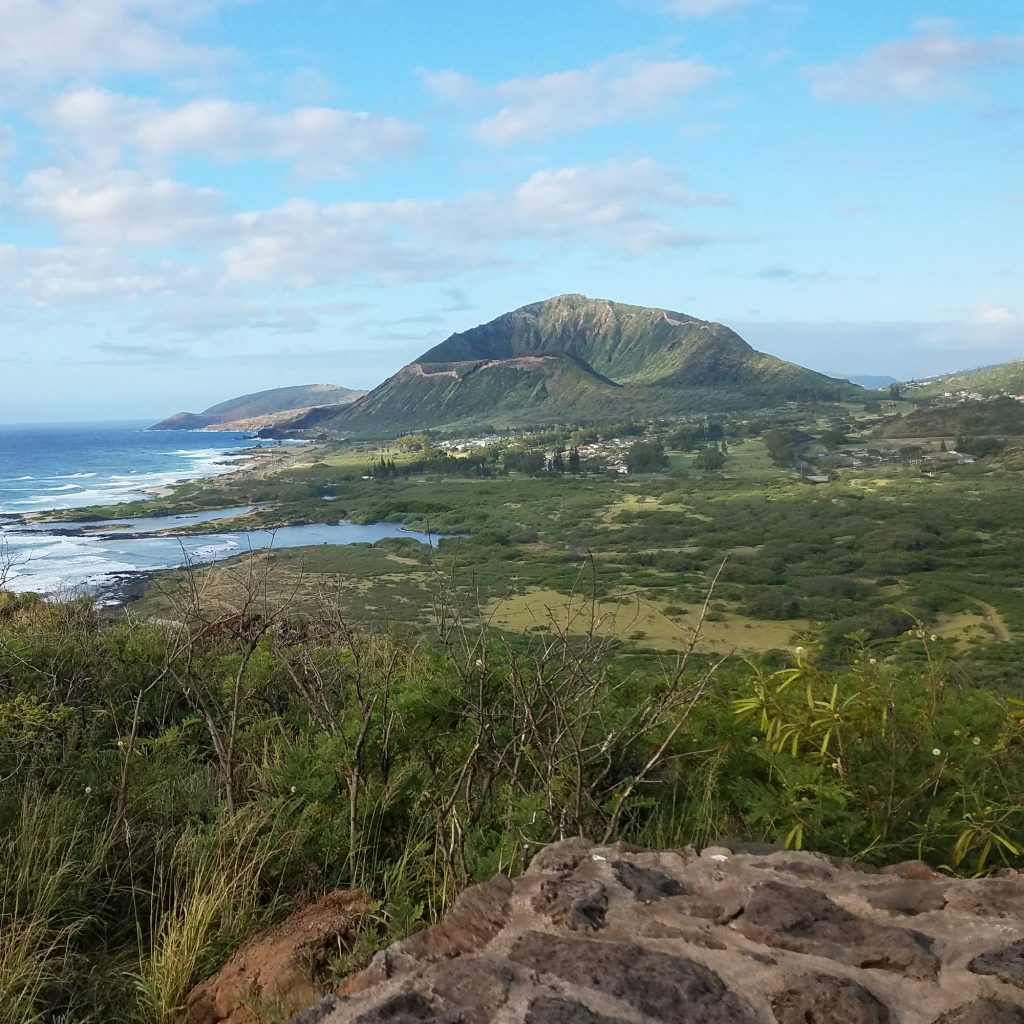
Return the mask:
[(0, 425), (0, 584), (49, 596), (89, 594), (118, 603), (140, 572), (218, 561), (269, 547), (373, 544), (387, 537), (434, 539), (397, 523), (286, 526), (268, 532), (153, 536), (243, 514), (249, 509), (105, 520), (69, 527), (22, 521), (31, 512), (114, 505), (153, 487), (214, 476), (259, 444), (242, 434), (146, 432), (144, 423)]

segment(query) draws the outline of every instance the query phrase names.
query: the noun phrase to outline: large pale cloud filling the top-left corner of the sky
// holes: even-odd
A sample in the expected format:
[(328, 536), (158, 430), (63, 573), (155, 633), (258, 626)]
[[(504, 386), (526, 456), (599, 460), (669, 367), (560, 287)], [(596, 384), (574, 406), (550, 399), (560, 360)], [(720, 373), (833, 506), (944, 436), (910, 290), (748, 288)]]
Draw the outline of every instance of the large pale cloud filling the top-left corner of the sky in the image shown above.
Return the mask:
[(73, 76), (208, 68), (223, 51), (182, 30), (214, 0), (0, 0), (0, 80), (15, 88)]

